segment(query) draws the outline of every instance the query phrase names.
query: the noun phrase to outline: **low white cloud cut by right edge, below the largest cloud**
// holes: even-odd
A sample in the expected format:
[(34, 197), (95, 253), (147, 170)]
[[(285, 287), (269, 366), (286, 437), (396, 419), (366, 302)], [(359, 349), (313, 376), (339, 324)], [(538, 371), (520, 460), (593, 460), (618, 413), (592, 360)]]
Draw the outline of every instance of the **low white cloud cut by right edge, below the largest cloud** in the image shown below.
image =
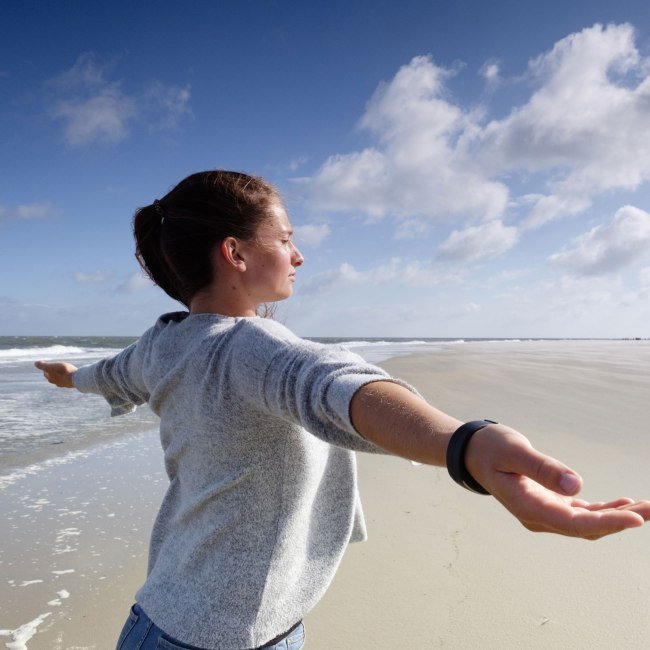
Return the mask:
[(650, 214), (631, 205), (608, 226), (596, 226), (550, 257), (577, 275), (605, 275), (650, 254)]

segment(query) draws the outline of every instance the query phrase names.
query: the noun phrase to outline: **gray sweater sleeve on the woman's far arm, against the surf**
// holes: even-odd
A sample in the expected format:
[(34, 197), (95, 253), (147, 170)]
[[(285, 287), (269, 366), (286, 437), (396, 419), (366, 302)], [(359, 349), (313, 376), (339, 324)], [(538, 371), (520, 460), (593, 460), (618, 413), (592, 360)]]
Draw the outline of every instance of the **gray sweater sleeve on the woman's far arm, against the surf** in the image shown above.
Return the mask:
[(72, 383), (82, 393), (104, 397), (112, 416), (132, 413), (149, 398), (142, 378), (143, 348), (140, 339), (114, 357), (82, 366), (72, 376)]

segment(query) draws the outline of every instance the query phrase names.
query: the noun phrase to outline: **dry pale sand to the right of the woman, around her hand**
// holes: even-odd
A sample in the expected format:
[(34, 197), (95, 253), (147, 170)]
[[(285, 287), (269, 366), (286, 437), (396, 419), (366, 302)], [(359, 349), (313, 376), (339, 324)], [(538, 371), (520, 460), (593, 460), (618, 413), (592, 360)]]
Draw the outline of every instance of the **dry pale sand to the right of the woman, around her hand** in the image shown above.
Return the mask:
[[(585, 479), (650, 498), (650, 343), (471, 344), (385, 367), (465, 420), (515, 426)], [(307, 617), (326, 648), (648, 648), (650, 528), (535, 535), (445, 470), (360, 458), (369, 541)]]

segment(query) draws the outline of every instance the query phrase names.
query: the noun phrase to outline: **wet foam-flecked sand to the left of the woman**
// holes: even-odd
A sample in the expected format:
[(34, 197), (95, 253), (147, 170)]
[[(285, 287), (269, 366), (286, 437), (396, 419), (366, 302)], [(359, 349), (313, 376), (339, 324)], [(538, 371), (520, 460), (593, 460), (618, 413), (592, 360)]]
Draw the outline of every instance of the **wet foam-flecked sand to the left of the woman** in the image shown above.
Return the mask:
[(166, 482), (157, 432), (0, 481), (0, 648), (114, 648)]

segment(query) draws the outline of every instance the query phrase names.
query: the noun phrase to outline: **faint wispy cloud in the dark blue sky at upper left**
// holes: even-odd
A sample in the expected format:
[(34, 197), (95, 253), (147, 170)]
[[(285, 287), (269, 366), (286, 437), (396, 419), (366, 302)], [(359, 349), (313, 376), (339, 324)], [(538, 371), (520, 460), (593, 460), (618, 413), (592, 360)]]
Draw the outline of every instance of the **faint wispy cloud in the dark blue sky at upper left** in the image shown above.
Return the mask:
[(142, 91), (128, 93), (121, 82), (105, 78), (92, 53), (79, 56), (48, 87), (54, 93), (51, 114), (65, 122), (65, 140), (71, 146), (120, 142), (136, 120), (150, 129), (172, 129), (191, 114), (189, 87), (153, 81)]

